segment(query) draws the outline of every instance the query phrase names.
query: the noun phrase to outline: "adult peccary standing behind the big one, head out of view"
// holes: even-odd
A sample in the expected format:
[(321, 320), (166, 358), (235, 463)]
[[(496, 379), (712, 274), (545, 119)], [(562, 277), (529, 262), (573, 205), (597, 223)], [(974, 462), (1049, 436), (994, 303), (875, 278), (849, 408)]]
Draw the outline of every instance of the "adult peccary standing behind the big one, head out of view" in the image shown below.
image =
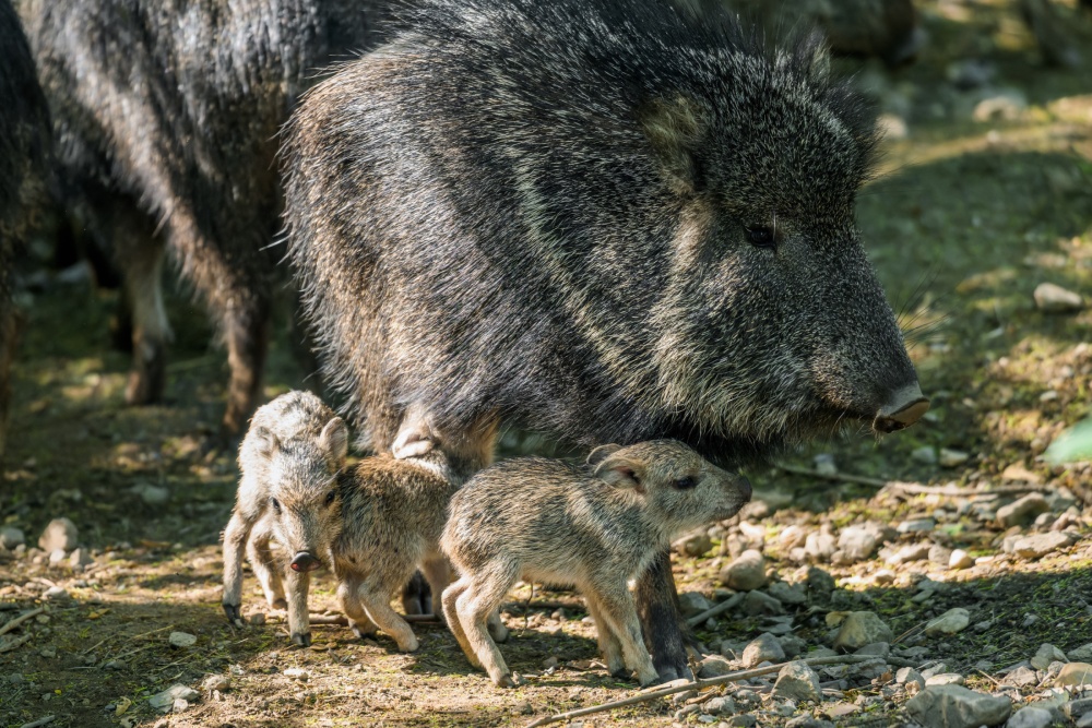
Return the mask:
[(283, 251), (276, 134), (317, 70), (367, 41), (354, 0), (25, 0), (67, 203), (115, 251), (132, 312), (132, 404), (161, 398), (165, 248), (227, 345), (224, 432), (260, 393)]

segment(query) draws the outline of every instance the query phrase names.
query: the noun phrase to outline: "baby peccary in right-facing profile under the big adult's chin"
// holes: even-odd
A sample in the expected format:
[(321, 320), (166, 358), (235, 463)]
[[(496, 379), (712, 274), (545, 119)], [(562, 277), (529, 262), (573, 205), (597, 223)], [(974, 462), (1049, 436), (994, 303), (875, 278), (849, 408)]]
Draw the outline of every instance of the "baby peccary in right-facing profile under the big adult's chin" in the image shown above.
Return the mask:
[(603, 445), (584, 467), (513, 460), (476, 475), (451, 501), (442, 547), (461, 578), (443, 613), (463, 652), (500, 687), (513, 684), (486, 617), (517, 580), (569, 583), (587, 601), (610, 673), (656, 680), (627, 582), (673, 536), (734, 515), (746, 478), (672, 440)]

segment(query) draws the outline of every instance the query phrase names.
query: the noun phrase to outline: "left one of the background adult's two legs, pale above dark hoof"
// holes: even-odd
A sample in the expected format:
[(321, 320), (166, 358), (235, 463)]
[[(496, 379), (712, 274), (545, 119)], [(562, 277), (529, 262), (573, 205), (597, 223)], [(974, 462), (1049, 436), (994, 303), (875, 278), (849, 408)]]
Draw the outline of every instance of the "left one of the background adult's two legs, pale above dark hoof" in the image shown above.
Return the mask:
[(119, 230), (119, 235), (136, 238), (130, 239), (119, 255), (132, 313), (133, 363), (126, 402), (146, 405), (163, 398), (167, 344), (173, 338), (163, 303), (164, 246), (159, 237), (146, 235), (143, 229)]

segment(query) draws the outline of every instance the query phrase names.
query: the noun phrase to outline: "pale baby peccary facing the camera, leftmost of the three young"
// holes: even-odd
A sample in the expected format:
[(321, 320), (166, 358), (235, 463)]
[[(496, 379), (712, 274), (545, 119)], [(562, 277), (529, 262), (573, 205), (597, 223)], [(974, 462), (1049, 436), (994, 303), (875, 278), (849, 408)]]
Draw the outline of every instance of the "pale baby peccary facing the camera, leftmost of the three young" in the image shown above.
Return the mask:
[[(309, 392), (283, 394), (254, 413), (239, 447), (242, 475), (224, 532), (228, 620), (239, 619), (246, 545), (270, 606), (288, 609), (292, 641), (310, 644), (309, 572), (323, 561), (333, 563), (331, 546), (341, 530), (336, 478), (347, 450), (345, 423)], [(274, 557), (271, 540), (287, 554), (284, 563)]]

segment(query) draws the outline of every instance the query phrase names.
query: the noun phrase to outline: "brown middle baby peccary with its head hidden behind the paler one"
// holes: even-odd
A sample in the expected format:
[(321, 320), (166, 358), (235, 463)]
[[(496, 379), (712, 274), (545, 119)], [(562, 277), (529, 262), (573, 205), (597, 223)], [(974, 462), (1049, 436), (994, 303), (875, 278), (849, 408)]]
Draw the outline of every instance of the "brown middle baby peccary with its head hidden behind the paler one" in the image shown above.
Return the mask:
[(402, 652), (417, 649), (417, 637), (391, 609), (391, 599), (418, 568), (434, 595), (448, 585), (450, 570), (439, 545), (456, 488), (439, 449), (405, 460), (368, 457), (342, 475), (334, 573), (337, 597), (357, 636), (378, 626)]

